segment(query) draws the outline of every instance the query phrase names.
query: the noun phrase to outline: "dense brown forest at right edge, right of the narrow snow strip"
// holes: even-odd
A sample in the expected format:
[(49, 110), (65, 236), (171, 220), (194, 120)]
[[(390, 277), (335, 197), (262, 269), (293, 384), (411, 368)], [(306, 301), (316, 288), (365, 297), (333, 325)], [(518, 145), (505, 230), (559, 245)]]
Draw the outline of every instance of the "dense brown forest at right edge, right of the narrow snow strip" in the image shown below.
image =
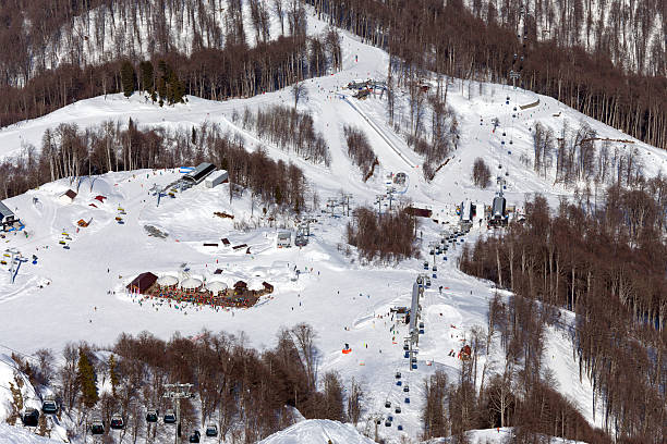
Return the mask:
[[(577, 313), (570, 338), (579, 377), (593, 382), (605, 432), (621, 442), (667, 435), (667, 181), (607, 189), (551, 210), (543, 197), (526, 220), (464, 248), (461, 269), (518, 296)], [(565, 322), (563, 322), (565, 323)]]

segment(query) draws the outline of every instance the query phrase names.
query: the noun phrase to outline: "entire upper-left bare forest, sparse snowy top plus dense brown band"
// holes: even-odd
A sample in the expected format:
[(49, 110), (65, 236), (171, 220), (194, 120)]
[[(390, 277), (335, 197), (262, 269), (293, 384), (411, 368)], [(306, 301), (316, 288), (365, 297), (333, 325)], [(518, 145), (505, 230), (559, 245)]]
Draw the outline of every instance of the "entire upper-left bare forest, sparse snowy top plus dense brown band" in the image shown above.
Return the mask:
[[(217, 0), (214, 2), (218, 3)], [(19, 3), (20, 8), (14, 8), (13, 3)], [(274, 2), (274, 7), (280, 4), (283, 8), (286, 24), (284, 30), (278, 36), (266, 36), (266, 32), (262, 28), (266, 26), (268, 12), (251, 8), (251, 11), (255, 11), (252, 13), (252, 23), (256, 21), (258, 26), (256, 32), (270, 37), (270, 39), (260, 38), (254, 46), (245, 41), (241, 1), (229, 2), (230, 8), (227, 8), (227, 2), (225, 3), (227, 11), (225, 20), (229, 33), (223, 36), (220, 35), (220, 29), (217, 29), (220, 24), (210, 15), (208, 7), (204, 8), (204, 2), (168, 1), (165, 2), (168, 4), (163, 9), (154, 9), (149, 0), (135, 3), (124, 0), (82, 2), (16, 0), (0, 4), (0, 13), (8, 17), (9, 23), (7, 28), (0, 29), (0, 41), (14, 48), (13, 51), (7, 51), (7, 55), (0, 57), (0, 70), (3, 74), (0, 84), (4, 86), (4, 94), (0, 98), (0, 125), (40, 116), (84, 98), (123, 91), (121, 71), (123, 62), (128, 60), (136, 72), (141, 71), (142, 62), (151, 61), (158, 66), (160, 61), (165, 61), (183, 85), (184, 94), (211, 100), (272, 91), (303, 78), (322, 76), (329, 70), (336, 71), (341, 67), (340, 36), (333, 29), (325, 30), (318, 36), (306, 36), (305, 12), (299, 1)], [(208, 23), (206, 26), (210, 29), (204, 32), (206, 37), (195, 33), (195, 42), (204, 39), (206, 45), (193, 44), (192, 48), (185, 50), (172, 41), (175, 37), (169, 34), (171, 28), (167, 23), (168, 18), (178, 17), (168, 17), (166, 14), (168, 11), (175, 13), (174, 11), (180, 10), (178, 16), (183, 18), (182, 4), (187, 4), (193, 14), (196, 12), (198, 22)], [(262, 9), (268, 3), (251, 1), (251, 5), (253, 4)], [(44, 48), (33, 48), (33, 42), (44, 40), (47, 45), (53, 38), (61, 38), (63, 33), (68, 33), (66, 27), (61, 29), (65, 23), (95, 7), (99, 7), (97, 11), (100, 14), (126, 7), (126, 11), (123, 11), (128, 13), (146, 14), (151, 17), (158, 15), (154, 21), (162, 25), (156, 24), (149, 29), (145, 38), (154, 42), (149, 44), (149, 50), (144, 52), (128, 52), (126, 47), (118, 42), (118, 51), (96, 60), (95, 63), (81, 54), (81, 57), (64, 57), (58, 64), (45, 62), (43, 59), (51, 54), (40, 54), (39, 50)], [(45, 11), (52, 11), (54, 15), (45, 16)], [(31, 26), (36, 24), (44, 26), (44, 29), (32, 29), (31, 33), (34, 34), (31, 34), (29, 39), (24, 34), (25, 29), (21, 29), (26, 17), (33, 17)], [(75, 30), (69, 29), (69, 33), (71, 34), (69, 39), (81, 39), (75, 35)], [(85, 41), (88, 42), (89, 39)], [(102, 41), (104, 39), (97, 45), (101, 46)], [(142, 76), (137, 76), (136, 81), (137, 89), (147, 89)]]

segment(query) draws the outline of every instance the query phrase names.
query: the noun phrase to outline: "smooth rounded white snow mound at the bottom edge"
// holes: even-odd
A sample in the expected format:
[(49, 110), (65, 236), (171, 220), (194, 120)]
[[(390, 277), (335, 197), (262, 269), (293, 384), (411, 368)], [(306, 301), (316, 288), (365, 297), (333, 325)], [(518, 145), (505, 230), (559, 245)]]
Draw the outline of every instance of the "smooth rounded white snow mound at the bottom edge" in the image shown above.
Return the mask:
[(373, 440), (362, 435), (350, 424), (329, 419), (308, 419), (274, 433), (259, 444), (372, 444)]

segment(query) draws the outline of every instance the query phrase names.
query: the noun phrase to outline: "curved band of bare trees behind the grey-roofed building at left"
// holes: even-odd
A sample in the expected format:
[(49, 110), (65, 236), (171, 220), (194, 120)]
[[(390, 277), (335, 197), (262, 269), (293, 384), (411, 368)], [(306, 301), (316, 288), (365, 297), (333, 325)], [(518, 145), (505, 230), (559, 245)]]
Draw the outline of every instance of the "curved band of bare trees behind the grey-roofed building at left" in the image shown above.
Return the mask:
[[(281, 210), (302, 211), (310, 186), (303, 171), (293, 163), (274, 161), (258, 148), (245, 149), (242, 137), (225, 133), (217, 124), (192, 128), (140, 128), (135, 122), (107, 121), (81, 130), (76, 124), (48, 128), (39, 152), (25, 148), (17, 159), (0, 163), (0, 193), (3, 198), (23, 194), (62, 177), (102, 174), (108, 171), (178, 168), (209, 161), (229, 172), (234, 186), (250, 189), (257, 200)], [(230, 199), (234, 186), (230, 186)]]

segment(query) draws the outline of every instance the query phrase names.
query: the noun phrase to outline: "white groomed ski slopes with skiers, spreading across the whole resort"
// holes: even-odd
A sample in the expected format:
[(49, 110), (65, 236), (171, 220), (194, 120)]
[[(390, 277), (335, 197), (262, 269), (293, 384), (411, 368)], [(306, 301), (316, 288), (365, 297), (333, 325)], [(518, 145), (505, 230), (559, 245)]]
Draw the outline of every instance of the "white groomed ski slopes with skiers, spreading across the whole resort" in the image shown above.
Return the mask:
[[(308, 18), (310, 32), (322, 32), (325, 26)], [(60, 123), (75, 123), (81, 128), (129, 119), (142, 127), (190, 128), (203, 122), (217, 123), (242, 136), (250, 148), (262, 145), (270, 157), (296, 163), (318, 192), (320, 201), (344, 190), (352, 194), (353, 206), (373, 206), (377, 195), (386, 193), (387, 174), (405, 172), (409, 186), (401, 198), (429, 206), (434, 211), (433, 218), (423, 220), (419, 229), (423, 256), (428, 255), (429, 242), (438, 240), (442, 232), (456, 226), (456, 205), (464, 198), (490, 203), (494, 189), (480, 189), (470, 177), (478, 157), (486, 159), (494, 171), (500, 165), (499, 170), (507, 172), (502, 178), (510, 203), (521, 206), (534, 193), (545, 194), (554, 203), (560, 196), (573, 195), (572, 188), (555, 186), (551, 180), (526, 168), (522, 160), (531, 159), (532, 128), (537, 122), (558, 133), (565, 121), (571, 127), (584, 121), (598, 137), (624, 140), (611, 143), (619, 152), (636, 148), (646, 175), (655, 175), (667, 165), (664, 151), (554, 99), (501, 85), (470, 85), (451, 79), (447, 100), (460, 116), (461, 139), (449, 162), (432, 182), (426, 182), (421, 172), (421, 156), (386, 123), (385, 101), (379, 97), (356, 101), (343, 89), (354, 78), (385, 78), (388, 55), (348, 34), (343, 35), (342, 48), (343, 70), (307, 81), (310, 99), (299, 106), (312, 112), (316, 128), (325, 134), (331, 151), (330, 168), (290, 157), (278, 147), (259, 141), (255, 134), (234, 122), (234, 112), (242, 113), (246, 107), (291, 106), (288, 90), (226, 102), (190, 97), (186, 104), (166, 108), (146, 103), (138, 95), (130, 99), (114, 95), (82, 100), (44, 118), (0, 130), (0, 156), (17, 156), (26, 144), (39, 148), (44, 132)], [(535, 106), (521, 110), (521, 106), (530, 103)], [(405, 107), (403, 97), (397, 106), (399, 118), (407, 113)], [(499, 127), (494, 131), (495, 118)], [(347, 156), (342, 134), (345, 124), (362, 128), (378, 157), (379, 169), (368, 182), (363, 181)], [(510, 140), (511, 149), (508, 148)], [(393, 410), (385, 408), (387, 400), (392, 406), (402, 406), (391, 427), (380, 427), (380, 436), (390, 442), (416, 439), (422, 428), (424, 378), (441, 369), (450, 380), (457, 379), (460, 361), (450, 356), (450, 350), (458, 350), (470, 340), (472, 328), (486, 324), (487, 301), (494, 293), (489, 283), (459, 271), (456, 262), (460, 246), (452, 247), (447, 259), (437, 259), (437, 278), (433, 279), (433, 287), (426, 291), (422, 303), (425, 332), (420, 341), (417, 369), (411, 370), (402, 350), (407, 325), (397, 323), (389, 311), (395, 306), (410, 305), (412, 284), (417, 273), (423, 272), (422, 260), (407, 260), (397, 266), (360, 264), (339, 248), (350, 220), (340, 210), (335, 214), (313, 210), (311, 215), (317, 222), (312, 224), (308, 246), (279, 249), (277, 227), (258, 221), (248, 193), (230, 202), (228, 184), (213, 189), (201, 184), (177, 193), (173, 199), (162, 198), (158, 206), (149, 189), (165, 187), (180, 176), (178, 170), (110, 172), (81, 182), (57, 181), (8, 199), (5, 203), (15, 210), (26, 227), (0, 239), (0, 245), (16, 248), (26, 259), (33, 255), (37, 259), (36, 263), (22, 262), (14, 283), (10, 282), (9, 264), (0, 267), (0, 345), (29, 354), (43, 347), (60, 350), (72, 341), (111, 344), (121, 332), (150, 331), (168, 338), (174, 332), (190, 336), (208, 329), (245, 332), (250, 344), (263, 348), (276, 343), (280, 328), (308, 322), (318, 334), (320, 371), (336, 370), (344, 380), (354, 377), (362, 381), (367, 393), (367, 414), (390, 414)], [(69, 188), (77, 196), (72, 203), (64, 203), (59, 196)], [(96, 200), (97, 196), (106, 199)], [(215, 212), (231, 213), (235, 219), (233, 222), (220, 219)], [(124, 213), (123, 224), (116, 219), (121, 213)], [(89, 226), (78, 227), (80, 219), (90, 221)], [(240, 221), (248, 222), (250, 226), (256, 221), (259, 226), (240, 231), (234, 225)], [(292, 227), (293, 220), (279, 218), (277, 224)], [(168, 235), (163, 239), (148, 236), (147, 226)], [(474, 242), (486, 234), (487, 229), (475, 223), (464, 242)], [(204, 246), (219, 243), (223, 237), (232, 245), (246, 244), (250, 254), (245, 248)], [(294, 267), (300, 271), (298, 279)], [(254, 288), (268, 281), (275, 285), (275, 293), (263, 297), (251, 309), (217, 311), (190, 305), (174, 308), (158, 300), (141, 300), (125, 292), (125, 285), (141, 272), (180, 275), (185, 268), (191, 276), (203, 281), (210, 281), (214, 271), (220, 268), (222, 274), (216, 279), (228, 285), (244, 280)], [(594, 419), (591, 384), (585, 378), (579, 381), (570, 344), (561, 334), (561, 331), (548, 331), (549, 356), (545, 356), (548, 358), (545, 365), (554, 370), (561, 392), (571, 396), (591, 423), (598, 424), (602, 416), (596, 415)], [(344, 344), (350, 345), (351, 354), (341, 353)], [(500, 350), (492, 349), (489, 356), (481, 357), (480, 367), (486, 360), (498, 361), (500, 355)], [(403, 384), (410, 386), (409, 404), (407, 392), (396, 384), (397, 371), (402, 373)], [(0, 404), (8, 399), (5, 392), (0, 391)], [(369, 433), (373, 428), (369, 417), (359, 428)], [(341, 442), (364, 442), (350, 429), (327, 421), (307, 421), (267, 439), (266, 443), (296, 442), (293, 440), (311, 436), (310, 433), (315, 433), (317, 439), (329, 433), (331, 439), (340, 436), (337, 439)]]

